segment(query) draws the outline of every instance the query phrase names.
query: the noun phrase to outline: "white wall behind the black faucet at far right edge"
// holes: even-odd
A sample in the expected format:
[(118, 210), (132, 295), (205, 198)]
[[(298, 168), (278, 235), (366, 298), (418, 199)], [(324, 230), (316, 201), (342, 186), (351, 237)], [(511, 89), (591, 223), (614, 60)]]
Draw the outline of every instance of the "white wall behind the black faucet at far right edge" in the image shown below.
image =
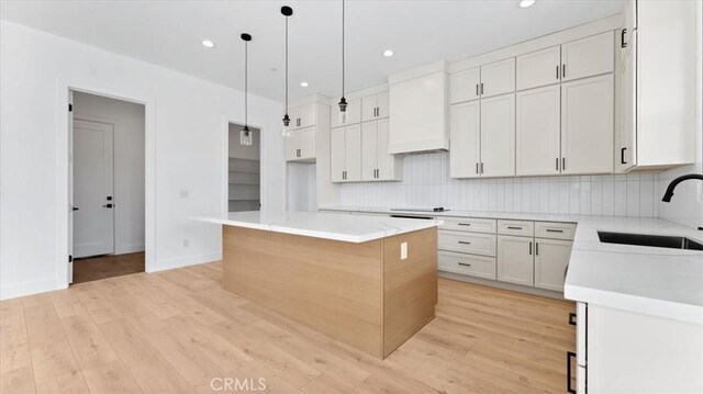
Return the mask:
[[(696, 154), (695, 164), (683, 168), (678, 168), (669, 171), (663, 171), (659, 176), (659, 192), (663, 195), (667, 185), (676, 177), (684, 173), (703, 173), (703, 60), (701, 52), (703, 50), (703, 5), (698, 2), (698, 54), (696, 54), (696, 104), (695, 104), (695, 128), (696, 128)], [(660, 202), (659, 211), (661, 217), (680, 223), (688, 227), (698, 228), (703, 226), (703, 182), (698, 180), (690, 180), (683, 183), (679, 183), (674, 190), (673, 198), (670, 203)]]

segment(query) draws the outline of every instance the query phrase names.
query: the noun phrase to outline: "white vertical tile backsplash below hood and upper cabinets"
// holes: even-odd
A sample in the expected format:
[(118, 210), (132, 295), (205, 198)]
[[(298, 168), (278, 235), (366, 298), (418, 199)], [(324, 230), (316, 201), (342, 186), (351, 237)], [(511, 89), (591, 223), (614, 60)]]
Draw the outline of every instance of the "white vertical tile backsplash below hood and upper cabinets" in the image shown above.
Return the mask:
[(342, 184), (343, 205), (657, 217), (658, 172), (449, 178), (446, 151), (409, 155), (402, 182)]

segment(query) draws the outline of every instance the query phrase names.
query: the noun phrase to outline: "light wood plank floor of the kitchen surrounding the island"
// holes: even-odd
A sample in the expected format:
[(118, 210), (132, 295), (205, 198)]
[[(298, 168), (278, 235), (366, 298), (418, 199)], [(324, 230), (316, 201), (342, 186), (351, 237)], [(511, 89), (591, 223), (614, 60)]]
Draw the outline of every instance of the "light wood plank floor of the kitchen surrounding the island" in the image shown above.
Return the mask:
[(440, 279), (437, 317), (380, 361), (222, 290), (221, 270), (1, 302), (0, 392), (210, 392), (213, 378), (270, 393), (566, 391), (571, 303)]

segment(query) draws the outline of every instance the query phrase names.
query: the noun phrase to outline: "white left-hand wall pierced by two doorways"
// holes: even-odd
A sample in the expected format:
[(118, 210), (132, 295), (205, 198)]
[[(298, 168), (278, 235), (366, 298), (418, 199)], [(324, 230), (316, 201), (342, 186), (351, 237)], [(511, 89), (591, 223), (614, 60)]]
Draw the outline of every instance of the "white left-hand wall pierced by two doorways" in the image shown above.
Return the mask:
[[(207, 53), (203, 53), (207, 56)], [(65, 285), (57, 162), (66, 124), (62, 81), (148, 98), (155, 127), (154, 263), (150, 271), (217, 259), (221, 230), (191, 214), (220, 215), (225, 204), (224, 135), (244, 120), (244, 95), (223, 86), (0, 21), (0, 297)], [(263, 209), (283, 209), (282, 105), (249, 98), (261, 128)], [(148, 134), (148, 128), (147, 128)], [(147, 168), (149, 164), (147, 158)], [(148, 177), (147, 177), (148, 179)], [(148, 188), (147, 188), (148, 189)], [(188, 191), (188, 198), (181, 192)], [(189, 247), (183, 240), (189, 239)], [(148, 247), (148, 245), (147, 245)], [(148, 254), (148, 251), (147, 251)], [(63, 261), (62, 261), (63, 260)]]

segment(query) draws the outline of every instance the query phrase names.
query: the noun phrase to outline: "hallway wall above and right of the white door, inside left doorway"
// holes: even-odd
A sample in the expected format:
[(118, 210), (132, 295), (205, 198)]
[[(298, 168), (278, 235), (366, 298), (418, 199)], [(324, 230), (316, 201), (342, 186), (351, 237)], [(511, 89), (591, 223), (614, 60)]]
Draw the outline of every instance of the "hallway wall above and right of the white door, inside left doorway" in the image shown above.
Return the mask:
[(74, 93), (74, 119), (103, 121), (114, 126), (114, 251), (143, 251), (144, 146), (143, 104), (82, 92)]

